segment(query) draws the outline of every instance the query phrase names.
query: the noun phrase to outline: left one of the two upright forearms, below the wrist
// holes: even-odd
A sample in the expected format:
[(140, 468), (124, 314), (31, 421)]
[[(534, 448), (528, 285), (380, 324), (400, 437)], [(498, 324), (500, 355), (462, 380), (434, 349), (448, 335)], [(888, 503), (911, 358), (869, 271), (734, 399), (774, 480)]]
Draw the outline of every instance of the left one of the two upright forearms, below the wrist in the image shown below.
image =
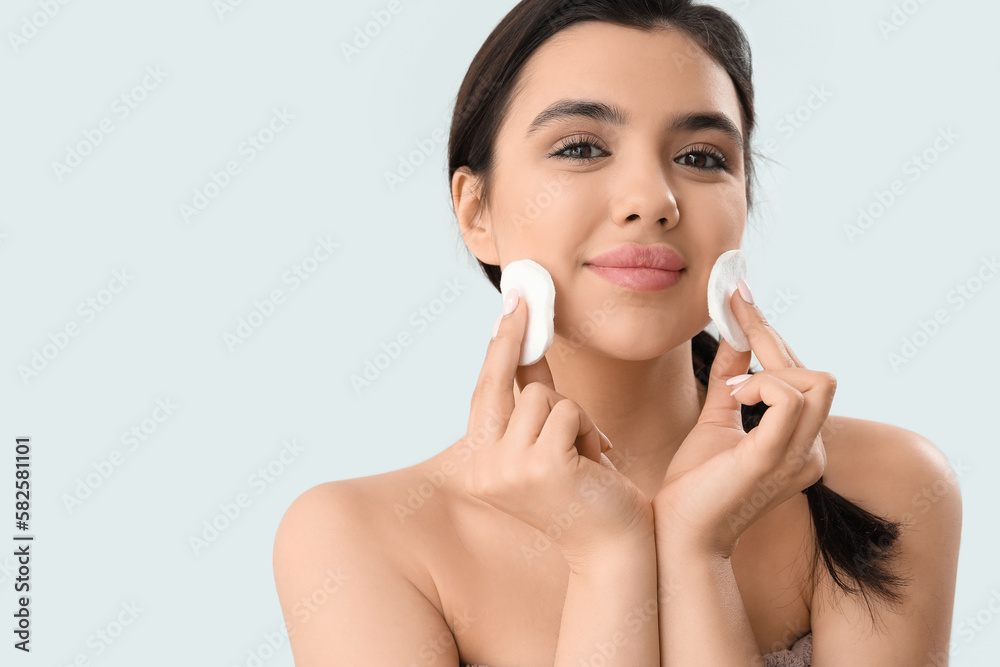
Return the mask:
[(656, 598), (652, 526), (571, 566), (555, 667), (658, 667)]

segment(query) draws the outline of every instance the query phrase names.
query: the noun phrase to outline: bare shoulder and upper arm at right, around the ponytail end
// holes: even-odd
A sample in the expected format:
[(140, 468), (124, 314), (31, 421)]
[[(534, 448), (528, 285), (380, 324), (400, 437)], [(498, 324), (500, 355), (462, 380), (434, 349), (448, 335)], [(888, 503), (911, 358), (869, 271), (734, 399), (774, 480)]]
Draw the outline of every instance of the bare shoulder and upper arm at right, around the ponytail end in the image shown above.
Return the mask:
[[(916, 665), (929, 656), (936, 656), (935, 664), (940, 656), (947, 662), (962, 532), (961, 469), (956, 474), (934, 443), (898, 426), (831, 416), (822, 435), (824, 484), (900, 525), (890, 569), (904, 585), (902, 604), (879, 604), (875, 614), (859, 596), (844, 595), (820, 566), (810, 603), (818, 638), (813, 664)], [(858, 572), (866, 558), (856, 554)]]

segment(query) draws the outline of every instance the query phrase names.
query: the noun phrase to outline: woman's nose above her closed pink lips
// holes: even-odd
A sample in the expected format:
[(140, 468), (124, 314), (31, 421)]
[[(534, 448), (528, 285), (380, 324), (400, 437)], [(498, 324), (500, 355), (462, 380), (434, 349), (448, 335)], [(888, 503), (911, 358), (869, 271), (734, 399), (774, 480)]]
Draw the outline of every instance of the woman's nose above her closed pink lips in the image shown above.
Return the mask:
[(680, 222), (677, 200), (665, 169), (662, 156), (657, 155), (642, 159), (637, 156), (622, 169), (617, 187), (621, 195), (612, 206), (616, 224), (647, 221), (672, 229)]

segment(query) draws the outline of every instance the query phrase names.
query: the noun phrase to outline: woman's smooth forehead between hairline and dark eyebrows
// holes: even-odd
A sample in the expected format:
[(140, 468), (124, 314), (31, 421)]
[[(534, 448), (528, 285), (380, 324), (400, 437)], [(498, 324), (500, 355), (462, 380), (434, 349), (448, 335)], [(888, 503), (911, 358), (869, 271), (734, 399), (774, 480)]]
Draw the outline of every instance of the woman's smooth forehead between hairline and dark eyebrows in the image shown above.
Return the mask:
[(505, 125), (524, 132), (555, 100), (613, 102), (633, 125), (660, 125), (692, 111), (720, 111), (742, 131), (736, 89), (725, 69), (685, 33), (601, 21), (553, 35), (525, 63)]

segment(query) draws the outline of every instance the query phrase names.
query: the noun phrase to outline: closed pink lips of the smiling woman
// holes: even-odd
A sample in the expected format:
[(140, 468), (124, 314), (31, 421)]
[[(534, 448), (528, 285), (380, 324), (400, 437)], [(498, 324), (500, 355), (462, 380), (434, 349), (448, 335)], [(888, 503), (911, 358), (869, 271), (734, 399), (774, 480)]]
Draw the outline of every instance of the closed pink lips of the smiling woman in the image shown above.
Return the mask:
[(638, 292), (654, 292), (677, 284), (684, 260), (665, 245), (627, 243), (584, 264), (601, 278)]

